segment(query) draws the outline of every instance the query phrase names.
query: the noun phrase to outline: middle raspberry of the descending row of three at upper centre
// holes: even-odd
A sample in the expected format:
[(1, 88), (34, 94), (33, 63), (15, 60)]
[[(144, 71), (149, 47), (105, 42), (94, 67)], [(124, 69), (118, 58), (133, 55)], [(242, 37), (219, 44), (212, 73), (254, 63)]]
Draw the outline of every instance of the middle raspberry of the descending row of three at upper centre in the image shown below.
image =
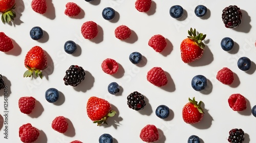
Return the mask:
[(115, 36), (120, 40), (129, 38), (131, 34), (132, 34), (131, 29), (124, 25), (118, 26), (115, 29)]

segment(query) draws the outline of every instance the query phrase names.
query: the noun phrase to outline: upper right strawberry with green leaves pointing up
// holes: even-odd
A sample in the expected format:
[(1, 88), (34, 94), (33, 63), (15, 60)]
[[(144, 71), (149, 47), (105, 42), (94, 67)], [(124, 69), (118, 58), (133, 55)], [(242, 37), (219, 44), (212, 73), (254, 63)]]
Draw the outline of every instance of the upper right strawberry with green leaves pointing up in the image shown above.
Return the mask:
[(202, 42), (206, 34), (198, 34), (190, 28), (188, 35), (180, 44), (181, 59), (184, 63), (193, 62), (203, 56), (205, 44)]

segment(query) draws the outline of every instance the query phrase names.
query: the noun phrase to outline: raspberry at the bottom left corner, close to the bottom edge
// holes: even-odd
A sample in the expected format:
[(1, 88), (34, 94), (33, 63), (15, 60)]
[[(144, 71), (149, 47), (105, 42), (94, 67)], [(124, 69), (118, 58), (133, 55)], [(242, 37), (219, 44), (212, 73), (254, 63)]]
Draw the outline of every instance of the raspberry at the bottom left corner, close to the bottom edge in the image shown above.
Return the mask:
[(22, 142), (34, 142), (39, 136), (39, 130), (27, 123), (19, 127), (18, 134)]

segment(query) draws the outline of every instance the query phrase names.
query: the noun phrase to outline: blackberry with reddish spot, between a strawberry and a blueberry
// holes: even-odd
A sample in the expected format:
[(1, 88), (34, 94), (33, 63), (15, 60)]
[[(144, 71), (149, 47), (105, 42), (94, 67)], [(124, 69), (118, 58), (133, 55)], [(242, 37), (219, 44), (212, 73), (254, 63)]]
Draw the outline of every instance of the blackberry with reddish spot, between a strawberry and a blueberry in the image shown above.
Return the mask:
[(142, 110), (145, 107), (146, 101), (141, 93), (139, 93), (138, 91), (134, 91), (129, 94), (129, 96), (127, 96), (127, 105), (129, 106), (129, 108), (138, 111)]

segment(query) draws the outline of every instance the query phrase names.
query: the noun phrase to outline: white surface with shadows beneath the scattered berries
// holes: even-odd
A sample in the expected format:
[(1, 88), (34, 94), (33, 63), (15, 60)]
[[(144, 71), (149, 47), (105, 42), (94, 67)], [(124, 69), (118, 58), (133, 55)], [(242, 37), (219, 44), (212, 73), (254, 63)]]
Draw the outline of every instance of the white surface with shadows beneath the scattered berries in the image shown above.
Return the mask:
[[(76, 1), (82, 12), (76, 18), (64, 14), (65, 5), (71, 1), (47, 1), (47, 13), (40, 15), (31, 7), (31, 1), (17, 1), (15, 25), (0, 24), (0, 31), (5, 32), (14, 42), (14, 49), (8, 53), (0, 53), (1, 71), (9, 86), (9, 129), (8, 138), (4, 138), (4, 127), (0, 131), (1, 142), (20, 142), (18, 128), (31, 123), (40, 130), (36, 142), (98, 142), (98, 137), (109, 133), (114, 142), (143, 142), (139, 138), (140, 130), (147, 124), (154, 124), (160, 132), (158, 142), (187, 142), (187, 138), (196, 134), (201, 142), (228, 142), (228, 131), (242, 128), (245, 131), (245, 143), (256, 142), (255, 117), (251, 107), (256, 104), (255, 96), (255, 8), (253, 1), (153, 1), (147, 13), (138, 12), (133, 1), (94, 0), (93, 3)], [(203, 4), (208, 8), (204, 18), (196, 17), (194, 9)], [(181, 5), (185, 12), (182, 19), (169, 16), (169, 8)], [(237, 5), (243, 11), (242, 24), (237, 29), (227, 29), (221, 19), (222, 10), (229, 5)], [(113, 21), (106, 21), (101, 16), (105, 7), (112, 7), (117, 15)], [(93, 20), (98, 24), (99, 33), (93, 40), (84, 39), (80, 33), (83, 22)], [(131, 38), (120, 41), (114, 36), (114, 30), (126, 25), (132, 30)], [(45, 31), (44, 39), (34, 41), (29, 31), (40, 26)], [(207, 34), (205, 52), (201, 59), (190, 64), (182, 62), (180, 42), (186, 38), (187, 30), (196, 28), (198, 32)], [(156, 53), (147, 45), (148, 39), (155, 34), (163, 35), (167, 47), (162, 53)], [(221, 49), (223, 37), (235, 41), (233, 51)], [(74, 40), (79, 49), (74, 55), (63, 50), (67, 40)], [(38, 45), (48, 55), (48, 68), (41, 80), (23, 78), (26, 70), (24, 58), (31, 47)], [(134, 65), (129, 61), (132, 52), (140, 52), (144, 56), (144, 64)], [(251, 69), (246, 73), (237, 67), (237, 60), (247, 56), (252, 61)], [(116, 75), (110, 76), (101, 70), (100, 64), (105, 58), (115, 59), (119, 65)], [(62, 80), (65, 71), (71, 64), (82, 66), (86, 70), (86, 78), (78, 87), (66, 86)], [(146, 74), (154, 66), (166, 71), (168, 84), (162, 88), (147, 82)], [(216, 74), (222, 67), (234, 72), (234, 83), (224, 85), (216, 80)], [(203, 92), (195, 91), (190, 81), (195, 75), (204, 75), (209, 86)], [(111, 82), (121, 85), (120, 94), (111, 95), (107, 87)], [(61, 92), (56, 104), (45, 100), (48, 88), (57, 88)], [(142, 111), (135, 111), (126, 105), (126, 97), (133, 91), (144, 94), (147, 105)], [(247, 99), (245, 111), (233, 111), (227, 103), (232, 93), (241, 93)], [(4, 91), (1, 90), (0, 114), (4, 114)], [(35, 109), (30, 115), (23, 114), (18, 108), (18, 99), (33, 96), (37, 100)], [(86, 104), (91, 96), (108, 100), (118, 113), (109, 118), (109, 125), (96, 126), (87, 116)], [(182, 107), (188, 98), (196, 97), (204, 102), (205, 115), (196, 125), (183, 122)], [(165, 104), (170, 109), (167, 120), (155, 115), (158, 105)], [(65, 134), (51, 128), (52, 120), (63, 115), (69, 119), (69, 130)], [(214, 139), (216, 141), (214, 141)]]

